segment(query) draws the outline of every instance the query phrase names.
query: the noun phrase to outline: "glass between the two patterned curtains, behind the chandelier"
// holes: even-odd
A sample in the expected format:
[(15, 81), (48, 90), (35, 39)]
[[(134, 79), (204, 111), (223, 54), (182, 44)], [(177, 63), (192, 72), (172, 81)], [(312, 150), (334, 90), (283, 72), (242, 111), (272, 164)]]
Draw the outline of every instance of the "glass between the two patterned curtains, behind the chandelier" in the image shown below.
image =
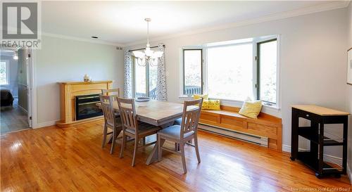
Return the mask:
[(156, 66), (140, 66), (134, 58), (134, 97), (156, 98), (157, 69)]

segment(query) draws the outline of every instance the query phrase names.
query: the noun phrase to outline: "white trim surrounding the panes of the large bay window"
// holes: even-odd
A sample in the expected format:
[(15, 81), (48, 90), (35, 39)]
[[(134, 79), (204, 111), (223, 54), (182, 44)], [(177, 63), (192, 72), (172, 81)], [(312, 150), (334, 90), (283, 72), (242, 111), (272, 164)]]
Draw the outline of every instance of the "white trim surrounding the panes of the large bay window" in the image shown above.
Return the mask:
[[(276, 91), (276, 105), (268, 105), (268, 103), (263, 102), (263, 110), (264, 111), (268, 111), (268, 112), (272, 112), (272, 113), (278, 113), (279, 110), (281, 109), (281, 92), (280, 92), (280, 34), (276, 34), (276, 35), (270, 35), (267, 37), (258, 37), (258, 38), (253, 38), (253, 81), (257, 82), (257, 76), (256, 76), (256, 72), (257, 72), (257, 61), (255, 59), (255, 56), (257, 55), (257, 43), (261, 42), (261, 41), (267, 41), (270, 39), (277, 39), (277, 91)], [(228, 45), (232, 45), (232, 44), (227, 44), (225, 46)], [(208, 46), (208, 47), (214, 47), (214, 46)], [(204, 46), (184, 46), (182, 47), (182, 49), (180, 49), (180, 96), (179, 98), (181, 100), (189, 100), (192, 98), (192, 96), (187, 96), (184, 95), (184, 69), (183, 69), (183, 49), (203, 49), (203, 94), (207, 94), (208, 93), (208, 71), (207, 71), (207, 59), (206, 59), (206, 52), (208, 47), (204, 47)], [(256, 96), (256, 91), (257, 88), (255, 87), (255, 83), (253, 84), (253, 93), (255, 93), (254, 95)], [(244, 101), (237, 101), (237, 100), (232, 100), (232, 99), (223, 99), (223, 98), (210, 98), (210, 99), (218, 99), (220, 100), (221, 105), (230, 105), (230, 106), (235, 106), (235, 107), (241, 107), (241, 105), (243, 104)]]

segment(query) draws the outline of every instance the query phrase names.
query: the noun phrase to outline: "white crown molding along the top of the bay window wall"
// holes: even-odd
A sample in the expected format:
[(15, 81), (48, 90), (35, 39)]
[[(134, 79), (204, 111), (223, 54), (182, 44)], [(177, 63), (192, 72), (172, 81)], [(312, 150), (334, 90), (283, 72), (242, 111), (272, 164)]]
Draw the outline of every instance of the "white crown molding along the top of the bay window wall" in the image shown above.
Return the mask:
[[(293, 17), (297, 17), (297, 16), (301, 16), (301, 15), (309, 15), (309, 14), (312, 14), (312, 13), (319, 13), (319, 12), (323, 12), (323, 11), (332, 11), (334, 9), (346, 8), (350, 3), (351, 3), (350, 0), (348, 0), (348, 1), (334, 1), (332, 3), (322, 4), (322, 5), (319, 5), (319, 6), (301, 8), (301, 9), (298, 9), (298, 10), (286, 11), (286, 12), (283, 12), (283, 13), (275, 13), (275, 14), (263, 16), (263, 17), (260, 17), (260, 18), (253, 18), (253, 19), (249, 19), (249, 20), (241, 20), (241, 21), (238, 21), (238, 22), (227, 23), (225, 25), (218, 25), (218, 26), (215, 26), (215, 27), (206, 27), (206, 28), (201, 28), (201, 29), (198, 29), (198, 30), (180, 32), (180, 33), (177, 33), (177, 34), (170, 34), (170, 35), (165, 35), (165, 36), (161, 36), (161, 37), (153, 37), (153, 38), (150, 39), (150, 41), (162, 41), (162, 40), (165, 40), (165, 39), (173, 39), (173, 38), (176, 38), (176, 37), (182, 37), (182, 36), (187, 36), (187, 35), (191, 35), (191, 34), (201, 34), (201, 33), (205, 33), (205, 32), (226, 30), (226, 29), (231, 29), (231, 28), (235, 28), (235, 27), (253, 25), (253, 24), (257, 24), (257, 23), (265, 23), (265, 22), (272, 21), (272, 20), (281, 20), (281, 19), (284, 19), (284, 18), (293, 18)], [(133, 42), (124, 44), (124, 46), (128, 47), (128, 46), (134, 46), (134, 45), (139, 45), (139, 44), (144, 44), (144, 43), (145, 43), (145, 39), (144, 40), (139, 40), (139, 41), (133, 41)]]

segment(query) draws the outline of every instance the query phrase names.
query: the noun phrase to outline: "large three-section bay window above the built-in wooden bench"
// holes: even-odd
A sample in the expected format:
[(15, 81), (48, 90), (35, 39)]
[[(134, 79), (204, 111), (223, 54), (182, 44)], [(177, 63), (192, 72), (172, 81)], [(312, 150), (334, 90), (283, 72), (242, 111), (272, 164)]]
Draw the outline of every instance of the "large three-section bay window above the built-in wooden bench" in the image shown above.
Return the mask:
[(260, 99), (277, 106), (277, 45), (272, 35), (187, 46), (183, 94), (227, 101)]

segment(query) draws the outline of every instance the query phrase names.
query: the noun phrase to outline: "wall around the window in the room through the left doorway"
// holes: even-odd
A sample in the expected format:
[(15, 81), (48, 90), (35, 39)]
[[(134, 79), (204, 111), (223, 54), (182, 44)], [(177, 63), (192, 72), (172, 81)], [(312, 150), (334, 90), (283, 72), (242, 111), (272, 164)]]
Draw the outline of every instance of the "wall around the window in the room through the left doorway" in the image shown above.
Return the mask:
[(10, 77), (8, 85), (1, 85), (1, 87), (6, 87), (11, 91), (14, 97), (18, 96), (18, 60), (14, 60), (13, 56), (1, 56), (1, 60), (8, 60)]

